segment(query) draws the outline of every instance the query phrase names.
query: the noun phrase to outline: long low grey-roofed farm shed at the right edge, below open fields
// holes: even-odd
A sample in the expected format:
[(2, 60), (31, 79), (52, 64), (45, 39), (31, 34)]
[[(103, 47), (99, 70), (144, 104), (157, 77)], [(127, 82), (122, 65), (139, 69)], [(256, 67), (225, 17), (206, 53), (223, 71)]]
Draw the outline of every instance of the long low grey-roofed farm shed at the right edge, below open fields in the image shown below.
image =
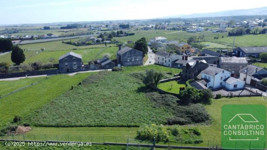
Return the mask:
[(233, 52), (236, 57), (259, 57), (260, 53), (267, 52), (267, 47), (240, 47)]

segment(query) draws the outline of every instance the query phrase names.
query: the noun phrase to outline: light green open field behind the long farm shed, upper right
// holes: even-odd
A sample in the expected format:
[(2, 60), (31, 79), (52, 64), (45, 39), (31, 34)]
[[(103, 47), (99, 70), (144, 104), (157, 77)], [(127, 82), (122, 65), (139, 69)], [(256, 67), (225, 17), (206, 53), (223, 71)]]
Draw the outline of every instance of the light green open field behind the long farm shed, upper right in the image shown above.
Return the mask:
[[(235, 37), (235, 40), (234, 40)], [(267, 34), (224, 36), (224, 38), (212, 39), (211, 42), (235, 47), (260, 47), (267, 46)]]

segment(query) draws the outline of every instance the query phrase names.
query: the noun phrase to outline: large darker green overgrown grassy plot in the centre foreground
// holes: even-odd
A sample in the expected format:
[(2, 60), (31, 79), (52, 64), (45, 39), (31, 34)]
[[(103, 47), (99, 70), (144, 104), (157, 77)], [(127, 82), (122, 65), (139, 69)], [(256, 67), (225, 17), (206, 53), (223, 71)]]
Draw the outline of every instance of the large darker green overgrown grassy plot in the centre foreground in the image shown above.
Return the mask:
[[(164, 67), (163, 67), (164, 68)], [(144, 84), (126, 72), (100, 72), (83, 86), (67, 91), (31, 116), (31, 124), (47, 127), (139, 126), (166, 122), (172, 114), (138, 91)]]

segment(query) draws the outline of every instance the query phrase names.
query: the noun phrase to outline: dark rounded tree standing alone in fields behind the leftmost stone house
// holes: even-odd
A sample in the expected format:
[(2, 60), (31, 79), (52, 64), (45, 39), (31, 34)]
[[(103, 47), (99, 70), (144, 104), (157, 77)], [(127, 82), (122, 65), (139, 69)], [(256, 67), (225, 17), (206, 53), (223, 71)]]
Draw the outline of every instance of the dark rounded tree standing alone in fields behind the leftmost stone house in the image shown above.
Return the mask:
[(11, 60), (16, 65), (19, 65), (25, 61), (25, 55), (23, 53), (23, 50), (20, 47), (18, 47), (18, 45), (15, 45), (12, 48)]

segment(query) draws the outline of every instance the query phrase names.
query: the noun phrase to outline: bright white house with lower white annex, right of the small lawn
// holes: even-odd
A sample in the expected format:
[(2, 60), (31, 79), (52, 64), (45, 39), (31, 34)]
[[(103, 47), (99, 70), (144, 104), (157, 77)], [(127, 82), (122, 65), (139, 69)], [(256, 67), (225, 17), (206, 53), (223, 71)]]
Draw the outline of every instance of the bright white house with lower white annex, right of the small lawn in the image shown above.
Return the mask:
[(201, 79), (206, 80), (206, 87), (225, 87), (228, 90), (242, 89), (245, 82), (230, 76), (231, 73), (221, 68), (209, 66), (200, 72)]

